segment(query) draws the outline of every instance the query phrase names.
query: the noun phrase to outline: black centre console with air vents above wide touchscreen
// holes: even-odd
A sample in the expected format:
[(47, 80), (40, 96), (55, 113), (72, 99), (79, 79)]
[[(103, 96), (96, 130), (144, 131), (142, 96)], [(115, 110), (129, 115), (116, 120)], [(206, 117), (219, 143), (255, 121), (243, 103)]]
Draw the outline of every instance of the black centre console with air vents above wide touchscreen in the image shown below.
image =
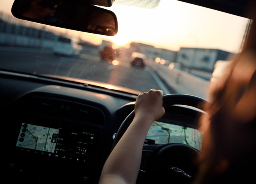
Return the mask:
[(5, 124), (11, 183), (97, 183), (105, 124), (100, 109), (36, 97), (12, 112), (19, 113)]

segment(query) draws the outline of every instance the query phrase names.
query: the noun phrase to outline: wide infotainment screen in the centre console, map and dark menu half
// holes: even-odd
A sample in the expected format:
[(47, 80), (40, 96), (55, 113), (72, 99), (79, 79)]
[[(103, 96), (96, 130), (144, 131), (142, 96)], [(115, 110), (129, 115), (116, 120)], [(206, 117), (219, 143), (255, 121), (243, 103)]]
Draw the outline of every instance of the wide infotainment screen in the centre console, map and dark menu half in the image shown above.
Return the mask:
[[(47, 125), (23, 122), (16, 147), (21, 153), (40, 157), (89, 162), (100, 144), (101, 132), (64, 124)], [(46, 154), (47, 153), (47, 154)]]

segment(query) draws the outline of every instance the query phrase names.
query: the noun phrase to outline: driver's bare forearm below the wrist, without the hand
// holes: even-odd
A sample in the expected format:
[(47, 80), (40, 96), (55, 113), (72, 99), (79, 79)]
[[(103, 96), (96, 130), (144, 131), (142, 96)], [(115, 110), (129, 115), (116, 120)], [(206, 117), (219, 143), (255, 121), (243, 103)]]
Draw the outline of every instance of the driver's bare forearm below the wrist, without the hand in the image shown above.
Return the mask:
[(100, 184), (106, 183), (105, 178), (110, 175), (122, 178), (124, 183), (136, 183), (143, 143), (152, 122), (150, 117), (135, 116), (108, 157), (102, 170)]

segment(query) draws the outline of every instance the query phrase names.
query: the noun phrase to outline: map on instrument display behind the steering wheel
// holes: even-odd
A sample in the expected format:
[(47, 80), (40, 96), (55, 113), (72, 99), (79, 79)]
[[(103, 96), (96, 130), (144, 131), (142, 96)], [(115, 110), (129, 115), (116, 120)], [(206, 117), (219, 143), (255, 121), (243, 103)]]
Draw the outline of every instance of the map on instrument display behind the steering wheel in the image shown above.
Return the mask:
[(201, 150), (202, 141), (202, 133), (197, 129), (155, 121), (148, 130), (145, 143), (183, 143)]

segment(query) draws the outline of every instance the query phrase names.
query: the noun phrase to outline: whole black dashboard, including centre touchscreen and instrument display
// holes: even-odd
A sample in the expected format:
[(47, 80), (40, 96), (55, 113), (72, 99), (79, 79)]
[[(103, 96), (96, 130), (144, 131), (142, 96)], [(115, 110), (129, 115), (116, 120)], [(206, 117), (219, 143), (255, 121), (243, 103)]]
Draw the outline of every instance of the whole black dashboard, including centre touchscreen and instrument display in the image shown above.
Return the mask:
[[(98, 183), (114, 134), (136, 96), (12, 72), (0, 73), (4, 170), (10, 182)], [(181, 142), (200, 150), (202, 112), (166, 107), (146, 144)]]

